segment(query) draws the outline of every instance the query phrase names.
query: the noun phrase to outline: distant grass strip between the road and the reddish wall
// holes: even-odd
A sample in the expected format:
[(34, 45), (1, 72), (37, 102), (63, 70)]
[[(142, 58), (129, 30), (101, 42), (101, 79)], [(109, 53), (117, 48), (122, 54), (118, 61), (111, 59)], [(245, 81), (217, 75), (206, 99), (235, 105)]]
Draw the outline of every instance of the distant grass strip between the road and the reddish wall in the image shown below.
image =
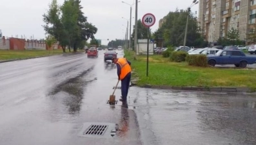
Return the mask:
[(63, 50), (0, 50), (0, 61), (26, 59), (44, 55), (57, 55), (61, 53), (63, 53)]

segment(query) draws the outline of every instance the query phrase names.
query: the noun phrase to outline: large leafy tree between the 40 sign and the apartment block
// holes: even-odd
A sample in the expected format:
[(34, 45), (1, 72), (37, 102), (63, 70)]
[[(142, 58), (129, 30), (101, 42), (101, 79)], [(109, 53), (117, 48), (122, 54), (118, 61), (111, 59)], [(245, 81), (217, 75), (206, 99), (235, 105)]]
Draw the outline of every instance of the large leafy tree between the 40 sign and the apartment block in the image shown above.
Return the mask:
[(154, 39), (164, 39), (164, 46), (181, 46), (184, 43), (184, 35), (186, 28), (186, 19), (188, 16), (188, 33), (186, 39), (187, 46), (205, 46), (206, 42), (199, 34), (199, 26), (197, 19), (190, 13), (190, 9), (185, 12), (169, 12), (164, 17), (162, 26), (153, 33)]

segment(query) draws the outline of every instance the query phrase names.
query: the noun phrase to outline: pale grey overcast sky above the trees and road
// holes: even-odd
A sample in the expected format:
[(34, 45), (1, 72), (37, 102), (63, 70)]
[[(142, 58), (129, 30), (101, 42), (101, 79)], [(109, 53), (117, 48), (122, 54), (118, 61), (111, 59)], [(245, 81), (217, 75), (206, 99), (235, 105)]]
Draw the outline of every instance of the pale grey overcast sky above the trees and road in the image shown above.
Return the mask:
[[(26, 38), (34, 35), (35, 39), (44, 38), (42, 25), (42, 15), (48, 9), (52, 0), (0, 0), (0, 30), (7, 37), (15, 35), (25, 35)], [(59, 5), (64, 0), (58, 0)], [(93, 23), (98, 32), (95, 35), (97, 39), (103, 39), (102, 43), (107, 44), (106, 39), (124, 39), (127, 20), (130, 19), (130, 6), (121, 2), (122, 0), (82, 0), (83, 12), (88, 17), (88, 21)], [(135, 0), (123, 0), (126, 3), (133, 4)], [(159, 19), (168, 12), (186, 9), (192, 4), (193, 0), (141, 0), (138, 5), (138, 19), (144, 14), (152, 13), (156, 17), (155, 25), (152, 26), (154, 32), (158, 28)], [(199, 5), (192, 8), (192, 12), (197, 11)], [(132, 9), (132, 17), (135, 17), (135, 5)], [(132, 19), (132, 26), (134, 25)], [(124, 25), (124, 26), (123, 26)]]

